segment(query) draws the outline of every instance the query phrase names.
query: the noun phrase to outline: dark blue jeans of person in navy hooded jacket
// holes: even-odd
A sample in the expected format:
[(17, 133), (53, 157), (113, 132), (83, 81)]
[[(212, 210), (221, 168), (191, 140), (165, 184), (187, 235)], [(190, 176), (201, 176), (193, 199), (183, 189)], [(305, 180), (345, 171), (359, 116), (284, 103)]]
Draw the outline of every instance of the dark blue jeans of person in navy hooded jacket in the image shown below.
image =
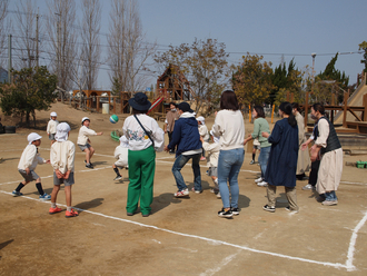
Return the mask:
[(201, 175), (200, 175), (200, 157), (201, 154), (196, 155), (180, 155), (176, 158), (172, 166), (172, 174), (176, 179), (176, 185), (178, 190), (184, 190), (187, 188), (184, 177), (181, 175), (181, 169), (187, 164), (188, 160), (192, 159), (192, 171), (194, 171), (194, 187), (195, 190), (201, 190)]

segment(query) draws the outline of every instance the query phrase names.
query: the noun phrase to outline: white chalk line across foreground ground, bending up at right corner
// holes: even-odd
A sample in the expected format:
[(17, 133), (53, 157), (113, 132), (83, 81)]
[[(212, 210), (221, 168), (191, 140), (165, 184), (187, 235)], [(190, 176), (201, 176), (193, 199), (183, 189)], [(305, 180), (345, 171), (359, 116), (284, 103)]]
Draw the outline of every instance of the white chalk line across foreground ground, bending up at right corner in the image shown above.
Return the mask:
[[(12, 196), (12, 194), (9, 193), (9, 191), (0, 190), (0, 193)], [(38, 203), (50, 204), (49, 201), (40, 201), (39, 199), (28, 197), (28, 196), (21, 196), (21, 198), (31, 199), (31, 200), (34, 200), (34, 201), (38, 201)], [(61, 205), (61, 204), (58, 204), (58, 205), (62, 206), (62, 207), (66, 207), (66, 205)], [(353, 265), (353, 262), (354, 262), (355, 245), (356, 245), (356, 240), (357, 240), (357, 236), (358, 236), (357, 234), (367, 220), (367, 211), (366, 211), (364, 218), (358, 223), (358, 225), (355, 227), (355, 229), (353, 231), (350, 243), (349, 243), (349, 247), (348, 247), (348, 258), (347, 258), (346, 264), (343, 265), (343, 264), (339, 264), (339, 263), (318, 262), (318, 260), (314, 260), (314, 259), (294, 257), (294, 256), (279, 254), (279, 253), (259, 250), (259, 249), (250, 248), (250, 247), (247, 247), (247, 246), (241, 246), (241, 245), (227, 243), (227, 241), (224, 241), (224, 240), (206, 238), (206, 237), (201, 237), (201, 236), (197, 236), (197, 235), (190, 235), (190, 234), (186, 234), (186, 233), (173, 231), (173, 230), (160, 228), (160, 227), (157, 227), (157, 226), (153, 226), (153, 225), (147, 225), (147, 224), (141, 224), (141, 223), (137, 223), (137, 221), (133, 221), (133, 220), (128, 220), (128, 219), (123, 219), (123, 218), (119, 218), (119, 217), (112, 217), (112, 216), (108, 216), (108, 215), (97, 213), (97, 211), (85, 210), (85, 209), (81, 209), (81, 208), (76, 208), (76, 209), (78, 209), (82, 213), (87, 213), (87, 214), (91, 214), (91, 215), (96, 215), (96, 216), (100, 216), (100, 217), (105, 217), (105, 218), (110, 218), (110, 219), (113, 219), (113, 220), (123, 221), (123, 223), (128, 223), (128, 224), (133, 224), (133, 225), (137, 225), (137, 226), (140, 226), (140, 227), (146, 227), (146, 228), (151, 228), (151, 229), (156, 229), (156, 230), (160, 230), (160, 231), (165, 231), (165, 233), (170, 233), (170, 234), (182, 236), (182, 237), (189, 237), (189, 238), (205, 240), (205, 241), (208, 241), (209, 244), (215, 244), (215, 245), (221, 244), (221, 245), (239, 248), (239, 249), (242, 249), (242, 250), (259, 253), (259, 254), (266, 254), (266, 255), (270, 255), (270, 256), (275, 256), (275, 257), (279, 257), (279, 258), (299, 260), (299, 262), (304, 262), (304, 263), (323, 265), (323, 266), (330, 266), (330, 267), (335, 267), (335, 268), (345, 268), (348, 272), (351, 272), (351, 270), (356, 269), (356, 267)]]

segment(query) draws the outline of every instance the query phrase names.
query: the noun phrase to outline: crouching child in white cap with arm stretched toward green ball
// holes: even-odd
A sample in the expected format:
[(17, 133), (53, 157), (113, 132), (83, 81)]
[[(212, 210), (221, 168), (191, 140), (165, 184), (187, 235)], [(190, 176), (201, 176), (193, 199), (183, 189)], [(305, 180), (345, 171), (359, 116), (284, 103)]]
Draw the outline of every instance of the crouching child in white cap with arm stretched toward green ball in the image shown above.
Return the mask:
[(92, 146), (89, 145), (89, 136), (95, 135), (102, 135), (103, 132), (96, 132), (92, 129), (89, 129), (90, 119), (88, 117), (83, 117), (81, 119), (81, 128), (79, 129), (79, 136), (78, 136), (78, 146), (81, 149), (81, 151), (86, 152), (86, 167), (92, 169), (93, 165), (90, 162), (90, 159), (92, 158), (95, 154), (95, 149)]

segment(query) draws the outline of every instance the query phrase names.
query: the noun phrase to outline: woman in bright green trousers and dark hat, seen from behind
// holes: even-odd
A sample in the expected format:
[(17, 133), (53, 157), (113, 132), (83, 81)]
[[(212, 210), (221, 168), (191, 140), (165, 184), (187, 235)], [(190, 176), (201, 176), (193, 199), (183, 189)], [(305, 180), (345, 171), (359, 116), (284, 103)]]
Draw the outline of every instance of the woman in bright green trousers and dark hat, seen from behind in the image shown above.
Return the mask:
[(151, 106), (148, 97), (138, 92), (129, 99), (132, 116), (126, 118), (122, 127), (123, 135), (129, 140), (129, 188), (127, 200), (127, 215), (132, 216), (138, 208), (140, 197), (140, 211), (143, 217), (150, 214), (153, 196), (153, 179), (156, 170), (156, 151), (165, 146), (165, 131), (157, 121), (147, 116)]

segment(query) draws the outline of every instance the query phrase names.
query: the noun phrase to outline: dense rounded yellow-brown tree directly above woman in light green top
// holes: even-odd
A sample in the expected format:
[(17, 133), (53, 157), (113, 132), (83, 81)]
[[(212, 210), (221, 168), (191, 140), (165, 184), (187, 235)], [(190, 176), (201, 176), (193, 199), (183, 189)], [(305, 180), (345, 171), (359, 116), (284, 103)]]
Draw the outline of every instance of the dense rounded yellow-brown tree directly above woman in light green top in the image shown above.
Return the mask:
[(234, 90), (239, 102), (245, 106), (262, 105), (275, 88), (271, 81), (271, 62), (261, 63), (262, 58), (247, 53), (234, 73)]

